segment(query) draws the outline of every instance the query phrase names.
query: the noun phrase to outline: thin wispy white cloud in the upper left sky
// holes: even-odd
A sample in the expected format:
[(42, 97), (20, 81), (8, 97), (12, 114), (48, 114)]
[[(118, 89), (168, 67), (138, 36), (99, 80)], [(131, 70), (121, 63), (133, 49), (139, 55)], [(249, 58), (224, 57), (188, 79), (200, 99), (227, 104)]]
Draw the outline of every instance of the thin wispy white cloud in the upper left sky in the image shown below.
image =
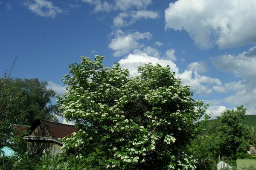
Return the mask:
[(26, 1), (23, 3), (30, 11), (41, 17), (52, 17), (55, 18), (57, 14), (67, 13), (58, 6), (54, 6), (51, 1), (47, 0), (34, 0)]

